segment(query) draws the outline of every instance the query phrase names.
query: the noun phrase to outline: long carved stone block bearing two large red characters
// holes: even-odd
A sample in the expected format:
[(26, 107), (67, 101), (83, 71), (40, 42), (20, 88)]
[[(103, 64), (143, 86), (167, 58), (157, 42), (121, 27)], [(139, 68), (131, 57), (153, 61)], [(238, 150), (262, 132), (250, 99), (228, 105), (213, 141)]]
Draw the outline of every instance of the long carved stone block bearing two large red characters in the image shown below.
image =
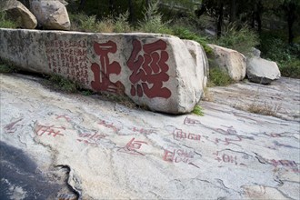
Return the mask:
[(0, 38), (5, 49), (0, 57), (25, 70), (64, 75), (97, 92), (125, 94), (155, 111), (190, 112), (202, 94), (204, 80), (191, 72), (203, 69), (195, 69), (178, 37), (1, 29)]

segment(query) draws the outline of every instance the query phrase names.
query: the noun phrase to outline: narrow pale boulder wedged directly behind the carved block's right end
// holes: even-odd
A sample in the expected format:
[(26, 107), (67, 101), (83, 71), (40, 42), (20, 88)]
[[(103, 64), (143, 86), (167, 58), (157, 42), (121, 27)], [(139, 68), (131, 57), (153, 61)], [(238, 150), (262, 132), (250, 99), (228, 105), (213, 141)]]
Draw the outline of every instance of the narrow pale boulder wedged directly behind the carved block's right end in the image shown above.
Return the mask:
[[(194, 58), (195, 70), (191, 71), (191, 76), (195, 76), (195, 85), (200, 85), (201, 95), (207, 84), (208, 79), (208, 60), (205, 49), (199, 43), (193, 40), (183, 40), (188, 51)], [(196, 86), (198, 87), (198, 86)]]

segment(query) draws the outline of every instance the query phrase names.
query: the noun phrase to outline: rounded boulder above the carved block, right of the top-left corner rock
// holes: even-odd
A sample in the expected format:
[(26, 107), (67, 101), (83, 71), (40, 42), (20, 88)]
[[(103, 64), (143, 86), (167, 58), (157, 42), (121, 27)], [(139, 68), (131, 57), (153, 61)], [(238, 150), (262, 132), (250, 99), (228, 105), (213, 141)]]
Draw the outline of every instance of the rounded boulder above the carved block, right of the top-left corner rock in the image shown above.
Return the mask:
[(65, 5), (58, 0), (32, 0), (30, 10), (38, 24), (46, 29), (70, 30), (71, 23)]

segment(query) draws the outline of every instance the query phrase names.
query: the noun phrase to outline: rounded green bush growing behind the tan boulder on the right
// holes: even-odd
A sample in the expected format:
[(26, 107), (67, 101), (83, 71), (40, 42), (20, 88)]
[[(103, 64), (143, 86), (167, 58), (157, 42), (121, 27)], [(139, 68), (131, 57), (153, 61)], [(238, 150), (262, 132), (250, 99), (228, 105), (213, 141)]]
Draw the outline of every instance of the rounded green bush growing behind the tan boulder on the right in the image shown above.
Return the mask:
[(259, 45), (259, 37), (247, 25), (235, 23), (226, 25), (220, 38), (213, 41), (215, 45), (235, 49), (243, 55), (251, 55), (252, 47)]

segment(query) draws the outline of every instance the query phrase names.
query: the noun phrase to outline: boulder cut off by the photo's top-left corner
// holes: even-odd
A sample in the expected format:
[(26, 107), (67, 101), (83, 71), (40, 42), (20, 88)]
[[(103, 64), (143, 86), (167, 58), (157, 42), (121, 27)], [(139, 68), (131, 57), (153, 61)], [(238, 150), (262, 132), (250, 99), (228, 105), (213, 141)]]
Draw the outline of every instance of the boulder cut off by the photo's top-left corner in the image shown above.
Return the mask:
[(22, 3), (9, 0), (1, 3), (1, 10), (6, 11), (15, 20), (21, 17), (21, 26), (27, 29), (35, 29), (37, 21), (35, 15), (33, 15)]

